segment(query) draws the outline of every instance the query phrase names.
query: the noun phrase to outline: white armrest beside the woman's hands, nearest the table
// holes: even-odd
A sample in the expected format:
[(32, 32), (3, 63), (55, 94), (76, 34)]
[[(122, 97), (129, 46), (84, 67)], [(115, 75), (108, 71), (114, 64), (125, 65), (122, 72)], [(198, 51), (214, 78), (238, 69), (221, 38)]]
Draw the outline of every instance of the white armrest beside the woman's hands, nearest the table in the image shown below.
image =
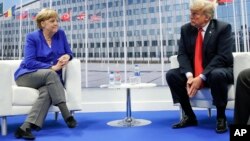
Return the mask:
[(67, 98), (70, 110), (81, 110), (81, 62), (79, 59), (72, 59), (66, 69), (65, 75), (65, 89), (67, 91)]

